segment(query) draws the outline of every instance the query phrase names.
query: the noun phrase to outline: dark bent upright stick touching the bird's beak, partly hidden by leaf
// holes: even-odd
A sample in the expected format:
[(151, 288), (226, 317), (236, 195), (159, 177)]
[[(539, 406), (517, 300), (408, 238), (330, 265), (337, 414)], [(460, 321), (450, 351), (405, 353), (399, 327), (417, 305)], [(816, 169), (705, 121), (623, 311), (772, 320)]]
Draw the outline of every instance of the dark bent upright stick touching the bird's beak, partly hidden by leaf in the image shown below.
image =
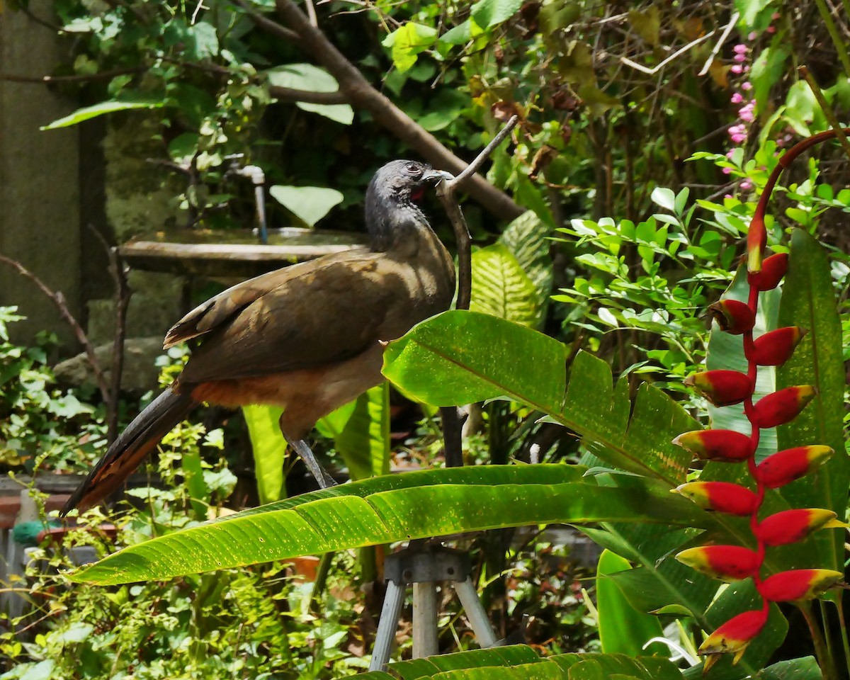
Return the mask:
[[(463, 212), (455, 198), (457, 187), (481, 167), (484, 161), (493, 153), (493, 150), (501, 144), (510, 134), (513, 127), (519, 121), (518, 116), (513, 116), (505, 127), (484, 147), (484, 150), (472, 161), (456, 178), (441, 182), (437, 187), (439, 201), (443, 204), (446, 214), (449, 216), (452, 229), (455, 231), (457, 241), (457, 301), (456, 309), (469, 309), (472, 298), (472, 243), (469, 237), (467, 221), (463, 218)], [(443, 446), (445, 448), (446, 467), (460, 467), (463, 465), (462, 430), (464, 416), (456, 406), (444, 406), (439, 410), (443, 419)]]

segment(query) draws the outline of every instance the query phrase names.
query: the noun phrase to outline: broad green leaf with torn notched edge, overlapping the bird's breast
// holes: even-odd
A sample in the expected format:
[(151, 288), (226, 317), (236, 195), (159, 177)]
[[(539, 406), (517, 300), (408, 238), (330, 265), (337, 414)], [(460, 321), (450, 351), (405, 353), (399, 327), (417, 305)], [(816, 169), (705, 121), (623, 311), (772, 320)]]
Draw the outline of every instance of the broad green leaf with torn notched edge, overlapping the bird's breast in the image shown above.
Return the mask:
[(455, 310), (389, 343), (383, 373), (403, 392), (433, 405), (514, 399), (581, 434), (604, 462), (681, 484), (690, 456), (672, 439), (697, 423), (649, 385), (638, 390), (632, 409), (626, 381), (615, 389), (609, 365), (584, 352), (576, 355), (564, 396), (565, 360), (564, 345), (551, 337)]

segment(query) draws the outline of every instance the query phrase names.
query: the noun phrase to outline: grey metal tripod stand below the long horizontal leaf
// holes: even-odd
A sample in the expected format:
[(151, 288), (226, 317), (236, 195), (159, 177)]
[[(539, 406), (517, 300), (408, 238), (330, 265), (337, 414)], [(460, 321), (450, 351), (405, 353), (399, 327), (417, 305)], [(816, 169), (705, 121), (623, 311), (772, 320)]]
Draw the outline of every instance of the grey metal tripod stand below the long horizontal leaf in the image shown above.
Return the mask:
[(401, 607), (405, 603), (407, 584), (413, 584), (413, 657), (432, 656), (437, 646), (437, 583), (450, 581), (466, 611), (469, 625), (482, 649), (499, 642), (487, 619), (484, 606), (475, 592), (469, 564), (469, 553), (443, 547), (439, 543), (411, 541), (399, 553), (384, 562), (387, 594), (383, 600), (372, 649), (370, 671), (382, 671), (389, 661), (399, 626)]

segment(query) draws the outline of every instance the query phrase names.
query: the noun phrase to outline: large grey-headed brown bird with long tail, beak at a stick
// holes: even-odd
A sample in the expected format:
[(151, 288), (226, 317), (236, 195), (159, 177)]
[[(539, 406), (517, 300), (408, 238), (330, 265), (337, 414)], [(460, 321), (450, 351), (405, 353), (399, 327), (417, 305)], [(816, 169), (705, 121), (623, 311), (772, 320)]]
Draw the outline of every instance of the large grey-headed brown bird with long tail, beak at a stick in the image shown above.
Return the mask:
[(451, 178), (390, 161), (365, 194), (369, 246), (243, 281), (186, 314), (164, 348), (191, 343), (183, 371), (116, 438), (60, 514), (94, 507), (203, 402), (283, 407), (280, 432), (322, 488), (335, 484), (306, 442), (322, 416), (380, 384), (383, 348), (449, 309), (455, 264), (417, 205)]

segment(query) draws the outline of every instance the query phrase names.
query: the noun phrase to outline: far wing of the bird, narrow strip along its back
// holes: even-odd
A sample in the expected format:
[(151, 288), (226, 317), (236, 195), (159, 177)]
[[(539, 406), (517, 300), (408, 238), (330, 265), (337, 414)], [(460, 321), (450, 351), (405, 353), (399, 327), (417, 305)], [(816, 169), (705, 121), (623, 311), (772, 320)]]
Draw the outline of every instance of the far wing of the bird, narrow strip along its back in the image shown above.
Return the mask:
[[(322, 261), (329, 263), (352, 257), (357, 253), (364, 253), (365, 249), (353, 249), (347, 252), (328, 255), (325, 258), (320, 258)], [(283, 269), (276, 269), (267, 274), (255, 276), (253, 279), (242, 281), (235, 286), (229, 287), (226, 291), (218, 293), (215, 297), (211, 297), (205, 303), (199, 304), (195, 309), (192, 309), (189, 314), (186, 314), (167, 332), (163, 348), (173, 347), (178, 343), (184, 343), (195, 337), (206, 335), (207, 333), (216, 330), (218, 327), (227, 324), (236, 314), (239, 314), (248, 305), (256, 302), (263, 295), (274, 291), (280, 286), (285, 286), (288, 280), (297, 278), (302, 275), (305, 269), (310, 269), (316, 266), (320, 260), (310, 260), (299, 264), (293, 264)]]

